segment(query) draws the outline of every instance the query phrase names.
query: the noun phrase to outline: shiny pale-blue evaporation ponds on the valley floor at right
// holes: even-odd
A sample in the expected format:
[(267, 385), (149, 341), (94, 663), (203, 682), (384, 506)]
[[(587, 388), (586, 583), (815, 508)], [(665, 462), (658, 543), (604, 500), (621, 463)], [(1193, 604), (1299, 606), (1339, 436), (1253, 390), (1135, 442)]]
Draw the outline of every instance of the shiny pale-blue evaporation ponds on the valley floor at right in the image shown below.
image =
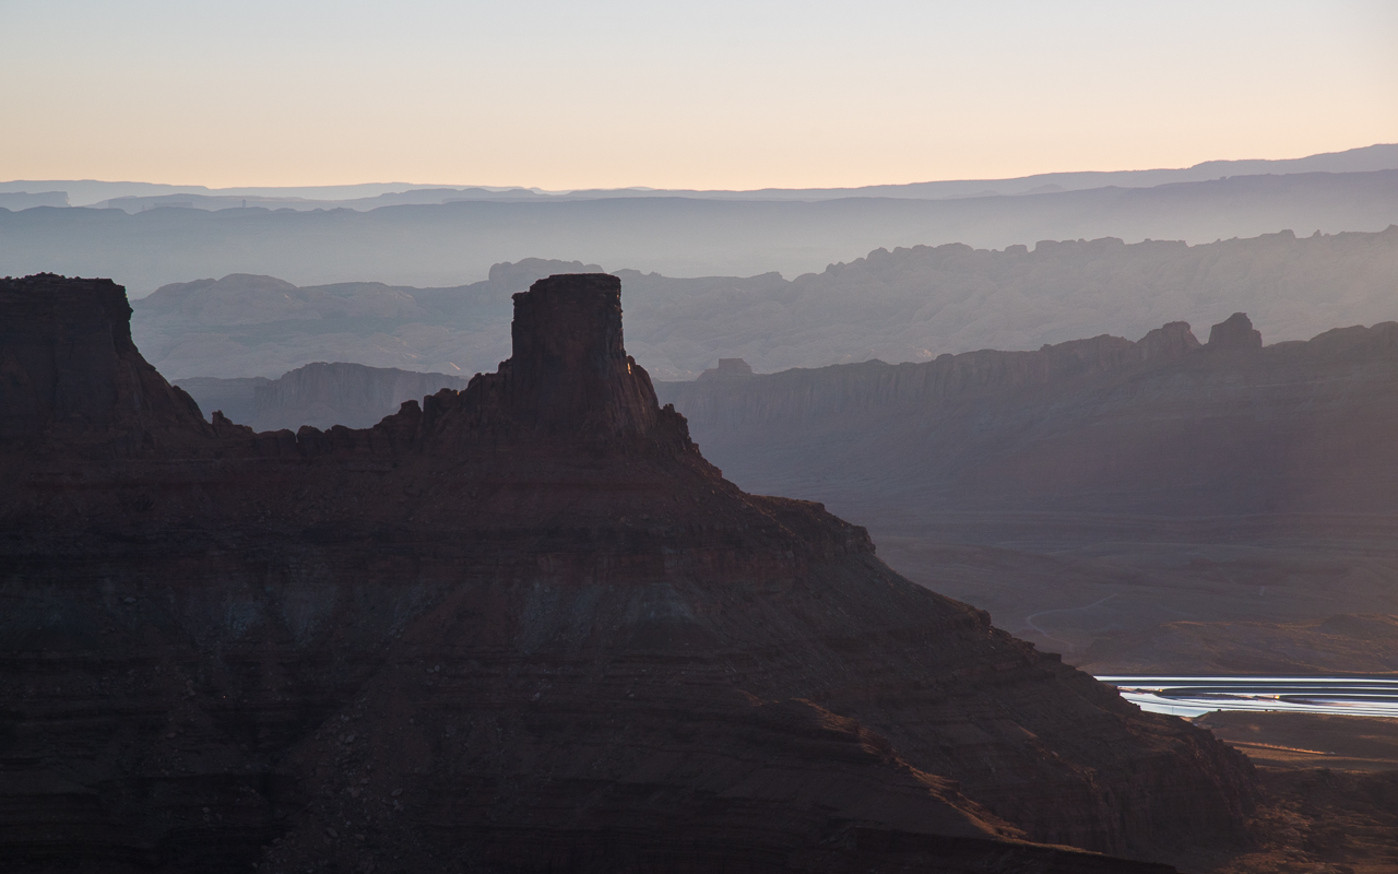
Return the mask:
[(1097, 677), (1142, 710), (1286, 710), (1398, 719), (1398, 678), (1387, 677)]

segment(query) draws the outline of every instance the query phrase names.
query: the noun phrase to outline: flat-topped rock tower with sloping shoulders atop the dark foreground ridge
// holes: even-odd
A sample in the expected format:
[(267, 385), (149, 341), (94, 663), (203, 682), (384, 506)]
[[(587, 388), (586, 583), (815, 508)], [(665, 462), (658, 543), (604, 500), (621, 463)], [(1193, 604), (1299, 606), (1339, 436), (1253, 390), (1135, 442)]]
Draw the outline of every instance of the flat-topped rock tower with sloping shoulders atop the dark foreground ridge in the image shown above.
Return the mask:
[(626, 354), (621, 280), (551, 275), (514, 295), (513, 355), (459, 396), (428, 399), (428, 432), (554, 438), (590, 447), (692, 447), (684, 417), (661, 410), (644, 368)]

